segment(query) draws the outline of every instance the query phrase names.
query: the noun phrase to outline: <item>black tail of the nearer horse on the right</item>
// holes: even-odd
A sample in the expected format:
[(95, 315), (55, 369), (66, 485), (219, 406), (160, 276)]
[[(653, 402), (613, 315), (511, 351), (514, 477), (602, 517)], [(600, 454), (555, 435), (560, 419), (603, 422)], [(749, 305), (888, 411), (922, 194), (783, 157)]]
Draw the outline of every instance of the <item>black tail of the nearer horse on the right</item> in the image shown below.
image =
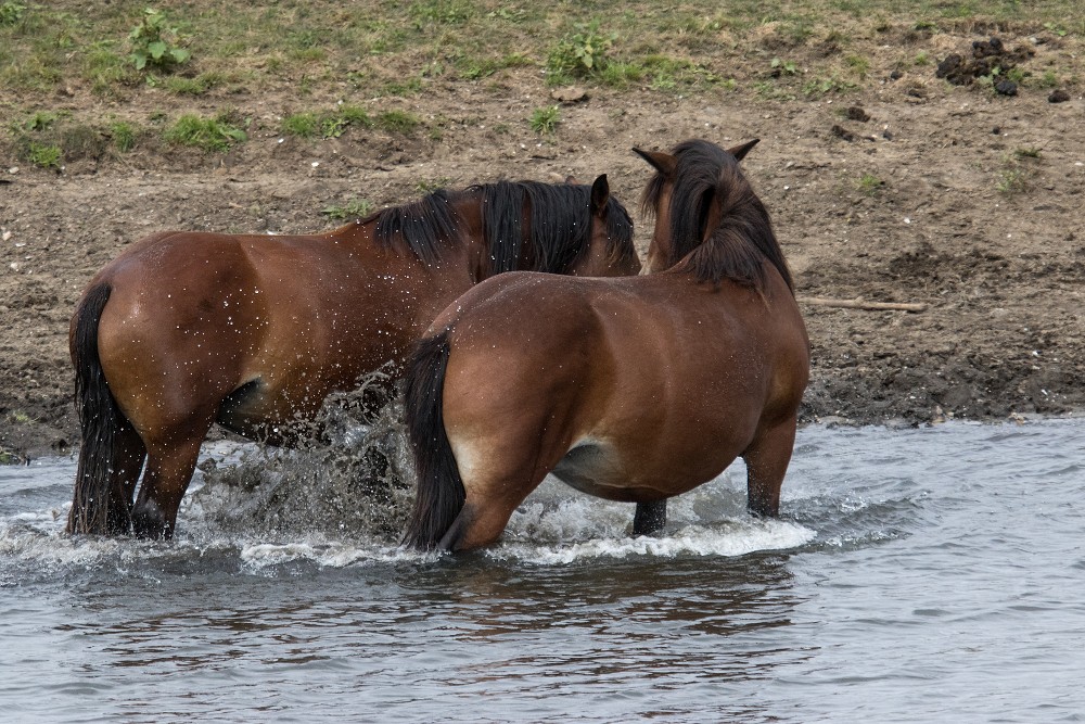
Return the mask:
[(463, 508), (467, 494), (445, 433), (442, 393), (448, 367), (448, 331), (422, 340), (407, 367), (404, 391), (418, 495), (404, 543), (436, 548)]

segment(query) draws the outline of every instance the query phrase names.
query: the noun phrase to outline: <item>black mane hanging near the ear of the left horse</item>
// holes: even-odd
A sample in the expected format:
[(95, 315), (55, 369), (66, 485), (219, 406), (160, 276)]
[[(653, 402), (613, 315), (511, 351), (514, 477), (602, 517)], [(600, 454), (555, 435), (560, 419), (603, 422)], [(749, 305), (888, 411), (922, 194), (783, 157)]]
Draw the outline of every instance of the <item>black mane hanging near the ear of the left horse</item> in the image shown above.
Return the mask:
[[(531, 204), (528, 265), (536, 271), (565, 274), (588, 249), (591, 187), (539, 181), (498, 181), (473, 186), (483, 194), (483, 229), (494, 274), (518, 268), (523, 251), (524, 201)], [(635, 254), (633, 219), (613, 198), (607, 202), (608, 253), (617, 259)]]

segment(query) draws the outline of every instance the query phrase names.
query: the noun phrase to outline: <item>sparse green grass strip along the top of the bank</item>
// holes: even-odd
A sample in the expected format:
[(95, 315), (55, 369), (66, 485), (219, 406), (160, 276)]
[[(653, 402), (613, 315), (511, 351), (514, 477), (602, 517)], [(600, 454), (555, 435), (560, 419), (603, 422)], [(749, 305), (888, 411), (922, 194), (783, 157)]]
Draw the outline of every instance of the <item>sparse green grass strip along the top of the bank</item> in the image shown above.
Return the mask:
[[(149, 13), (150, 8), (158, 12)], [(476, 84), (481, 93), (508, 93), (511, 76), (521, 84), (534, 77), (547, 85), (575, 81), (614, 92), (695, 96), (727, 89), (749, 100), (819, 98), (871, 87), (893, 68), (931, 73), (944, 45), (928, 42), (930, 36), (971, 37), (978, 27), (999, 25), (1022, 38), (1055, 36), (1067, 48), (1050, 67), (1023, 64), (1007, 74), (1010, 79), (1019, 77), (1022, 88), (1034, 92), (1080, 91), (1085, 80), (1075, 59), (1085, 42), (1085, 16), (1078, 0), (736, 0), (724, 5), (718, 0), (188, 0), (159, 5), (112, 0), (95, 4), (94, 12), (75, 0), (0, 0), (0, 144), (28, 152), (23, 136), (52, 131), (18, 124), (35, 110), (55, 113), (68, 90), (93, 93), (105, 105), (103, 117), (127, 106), (184, 107), (187, 99), (199, 98), (209, 118), (188, 118), (168, 128), (167, 136), (174, 143), (218, 150), (244, 139), (244, 124), (220, 117), (225, 110), (240, 106), (245, 115), (263, 117), (258, 104), (282, 97), (284, 89), (302, 117), (284, 120), (282, 132), (312, 139), (370, 126), (413, 135), (424, 124), (407, 111), (352, 117), (342, 109), (306, 107), (308, 98), (320, 99), (310, 106), (343, 99), (360, 109), (373, 98), (414, 99), (462, 81)], [(821, 52), (830, 46), (838, 50)], [(886, 50), (876, 55), (866, 50), (872, 47)], [(159, 103), (149, 93), (181, 98)], [(268, 110), (284, 115), (291, 109)], [(82, 123), (102, 129), (118, 150), (130, 149), (132, 138), (114, 132), (103, 117)], [(133, 123), (149, 128), (153, 119)], [(556, 123), (540, 117), (536, 132), (553, 132)], [(437, 139), (442, 129), (431, 125), (429, 134)], [(33, 140), (66, 152), (59, 140)]]

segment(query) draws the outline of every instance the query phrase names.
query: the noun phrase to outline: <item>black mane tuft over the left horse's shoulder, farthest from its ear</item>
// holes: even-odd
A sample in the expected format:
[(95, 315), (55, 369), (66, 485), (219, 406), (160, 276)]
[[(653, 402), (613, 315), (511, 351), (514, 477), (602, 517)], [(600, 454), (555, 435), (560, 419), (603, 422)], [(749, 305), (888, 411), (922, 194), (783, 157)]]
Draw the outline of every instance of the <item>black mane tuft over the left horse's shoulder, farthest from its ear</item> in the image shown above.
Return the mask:
[(376, 240), (385, 246), (406, 245), (424, 264), (436, 264), (441, 244), (458, 239), (463, 220), (451, 204), (448, 191), (438, 189), (417, 201), (392, 206), (370, 215), (376, 220)]

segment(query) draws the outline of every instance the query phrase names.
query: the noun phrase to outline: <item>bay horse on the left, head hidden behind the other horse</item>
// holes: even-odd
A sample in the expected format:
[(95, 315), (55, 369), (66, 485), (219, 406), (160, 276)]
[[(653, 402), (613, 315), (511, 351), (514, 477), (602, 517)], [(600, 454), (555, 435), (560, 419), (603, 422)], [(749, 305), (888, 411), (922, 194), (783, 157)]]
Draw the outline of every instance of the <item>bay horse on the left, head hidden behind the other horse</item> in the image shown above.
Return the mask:
[(140, 240), (72, 318), (82, 445), (67, 532), (169, 538), (213, 423), (290, 444), (292, 422), (390, 360), (401, 370), (438, 312), (513, 269), (640, 270), (605, 175), (438, 190), (318, 234)]

